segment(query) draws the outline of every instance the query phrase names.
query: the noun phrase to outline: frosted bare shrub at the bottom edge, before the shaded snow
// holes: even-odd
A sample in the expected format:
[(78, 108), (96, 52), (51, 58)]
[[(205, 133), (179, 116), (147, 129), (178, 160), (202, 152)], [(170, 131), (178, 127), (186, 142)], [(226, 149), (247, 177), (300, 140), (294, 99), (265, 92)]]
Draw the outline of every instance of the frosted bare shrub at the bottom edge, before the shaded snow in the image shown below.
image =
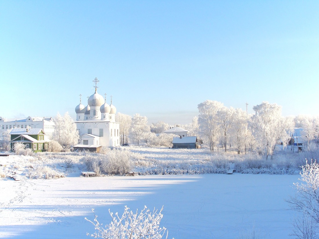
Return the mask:
[[(106, 225), (105, 228), (97, 220), (97, 215), (94, 213), (94, 220), (90, 221), (85, 218), (85, 220), (91, 222), (95, 227), (95, 233), (91, 236), (95, 238), (130, 238), (130, 239), (161, 239), (166, 234), (168, 236), (168, 231), (166, 228), (159, 227), (160, 220), (163, 218), (162, 210), (150, 211), (146, 206), (140, 213), (136, 210), (136, 213), (129, 211), (130, 208), (125, 206), (124, 213), (120, 217), (118, 213), (113, 213), (109, 211), (112, 222)], [(90, 235), (87, 233), (87, 235)], [(173, 238), (174, 239), (174, 238)]]

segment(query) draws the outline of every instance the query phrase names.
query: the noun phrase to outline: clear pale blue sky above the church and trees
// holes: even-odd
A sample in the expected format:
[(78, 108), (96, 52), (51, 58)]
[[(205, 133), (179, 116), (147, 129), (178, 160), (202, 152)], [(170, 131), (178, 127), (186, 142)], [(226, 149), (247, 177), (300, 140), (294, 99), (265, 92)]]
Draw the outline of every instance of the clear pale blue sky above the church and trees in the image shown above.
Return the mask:
[(207, 99), (319, 115), (319, 1), (0, 1), (0, 116), (55, 116), (94, 93), (149, 123)]

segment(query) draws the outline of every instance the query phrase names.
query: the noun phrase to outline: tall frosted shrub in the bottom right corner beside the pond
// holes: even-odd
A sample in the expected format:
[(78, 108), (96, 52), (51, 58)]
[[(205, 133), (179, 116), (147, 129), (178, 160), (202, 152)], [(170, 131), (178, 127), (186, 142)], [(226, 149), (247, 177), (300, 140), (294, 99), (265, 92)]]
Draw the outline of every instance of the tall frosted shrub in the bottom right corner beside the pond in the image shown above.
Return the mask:
[(319, 164), (306, 163), (301, 166), (299, 180), (294, 183), (296, 195), (288, 203), (301, 214), (294, 221), (294, 234), (297, 238), (318, 238), (319, 236)]

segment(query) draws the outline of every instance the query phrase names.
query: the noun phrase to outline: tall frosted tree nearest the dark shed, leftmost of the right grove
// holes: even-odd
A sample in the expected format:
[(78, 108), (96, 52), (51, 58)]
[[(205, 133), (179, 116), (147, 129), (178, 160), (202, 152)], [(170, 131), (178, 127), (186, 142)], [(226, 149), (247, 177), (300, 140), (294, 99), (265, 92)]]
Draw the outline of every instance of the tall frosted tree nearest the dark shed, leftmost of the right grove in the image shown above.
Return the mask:
[(197, 106), (199, 133), (208, 140), (211, 151), (214, 151), (219, 139), (220, 130), (217, 113), (222, 107), (224, 107), (222, 103), (212, 100), (206, 100)]

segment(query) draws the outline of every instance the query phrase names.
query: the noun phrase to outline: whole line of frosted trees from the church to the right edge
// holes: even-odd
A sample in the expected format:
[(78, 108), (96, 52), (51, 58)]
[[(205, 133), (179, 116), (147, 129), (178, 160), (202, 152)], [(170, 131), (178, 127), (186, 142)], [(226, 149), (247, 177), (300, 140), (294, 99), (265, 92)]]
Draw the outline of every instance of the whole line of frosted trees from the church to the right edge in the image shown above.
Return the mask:
[[(301, 136), (308, 142), (307, 147), (310, 141), (318, 141), (318, 117), (284, 117), (281, 106), (268, 102), (254, 106), (253, 110), (254, 114), (248, 114), (242, 109), (228, 108), (221, 102), (206, 100), (198, 105), (198, 117), (180, 127), (202, 139), (211, 151), (223, 148), (226, 152), (231, 147), (236, 148), (238, 154), (248, 151), (263, 153), (266, 159), (272, 157), (276, 145), (289, 142), (296, 127), (302, 128)], [(139, 114), (132, 118), (118, 113), (116, 121), (120, 123), (121, 144), (129, 140), (137, 144), (149, 143), (155, 140), (155, 133), (160, 134), (170, 127), (163, 121), (148, 125), (147, 118)]]

